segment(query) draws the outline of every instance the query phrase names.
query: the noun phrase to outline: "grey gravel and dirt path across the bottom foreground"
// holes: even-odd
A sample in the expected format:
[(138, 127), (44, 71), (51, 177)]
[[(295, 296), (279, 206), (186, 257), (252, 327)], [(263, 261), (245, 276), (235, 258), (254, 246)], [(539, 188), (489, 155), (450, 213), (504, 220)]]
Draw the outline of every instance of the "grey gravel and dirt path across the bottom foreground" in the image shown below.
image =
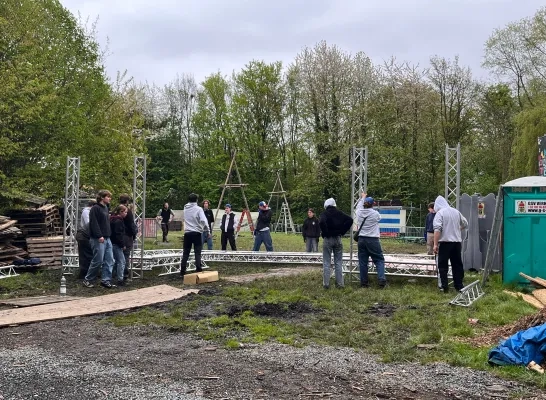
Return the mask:
[(104, 316), (0, 330), (0, 399), (546, 399), (445, 364), (383, 364), (346, 348), (216, 348)]

